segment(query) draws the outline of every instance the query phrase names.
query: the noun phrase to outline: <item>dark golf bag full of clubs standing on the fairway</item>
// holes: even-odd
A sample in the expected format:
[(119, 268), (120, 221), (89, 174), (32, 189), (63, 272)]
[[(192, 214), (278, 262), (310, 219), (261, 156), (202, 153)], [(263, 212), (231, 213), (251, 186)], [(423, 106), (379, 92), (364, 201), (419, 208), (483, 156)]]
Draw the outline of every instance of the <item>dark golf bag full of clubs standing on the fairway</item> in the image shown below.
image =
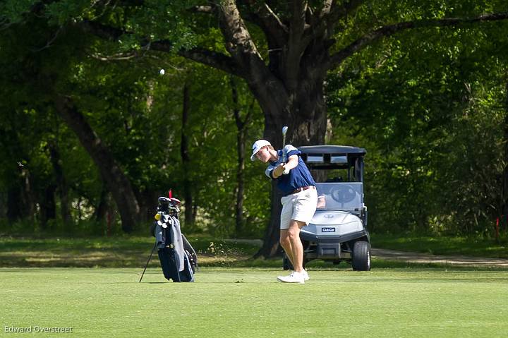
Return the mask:
[(191, 243), (181, 234), (179, 204), (176, 198), (159, 197), (152, 235), (155, 236), (164, 277), (173, 282), (194, 282), (198, 257)]

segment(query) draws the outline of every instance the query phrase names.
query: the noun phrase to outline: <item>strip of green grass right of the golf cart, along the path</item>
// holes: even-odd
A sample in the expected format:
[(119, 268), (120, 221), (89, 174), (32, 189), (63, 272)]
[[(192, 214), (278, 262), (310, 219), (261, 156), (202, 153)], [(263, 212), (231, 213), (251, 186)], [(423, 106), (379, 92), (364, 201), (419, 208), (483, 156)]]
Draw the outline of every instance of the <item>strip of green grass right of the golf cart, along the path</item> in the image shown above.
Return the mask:
[(432, 253), (434, 255), (470, 255), (485, 258), (508, 258), (508, 237), (498, 243), (481, 237), (394, 236), (373, 234), (374, 248)]

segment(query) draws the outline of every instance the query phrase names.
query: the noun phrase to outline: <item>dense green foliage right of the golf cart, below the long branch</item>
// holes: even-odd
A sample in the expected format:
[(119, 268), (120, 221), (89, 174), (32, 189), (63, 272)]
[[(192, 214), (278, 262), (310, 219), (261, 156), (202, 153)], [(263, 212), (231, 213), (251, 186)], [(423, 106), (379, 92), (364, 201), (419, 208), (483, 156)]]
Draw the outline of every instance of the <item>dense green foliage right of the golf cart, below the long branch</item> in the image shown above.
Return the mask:
[(503, 27), (404, 32), (330, 76), (332, 142), (369, 152), (374, 231), (492, 234), (507, 128)]

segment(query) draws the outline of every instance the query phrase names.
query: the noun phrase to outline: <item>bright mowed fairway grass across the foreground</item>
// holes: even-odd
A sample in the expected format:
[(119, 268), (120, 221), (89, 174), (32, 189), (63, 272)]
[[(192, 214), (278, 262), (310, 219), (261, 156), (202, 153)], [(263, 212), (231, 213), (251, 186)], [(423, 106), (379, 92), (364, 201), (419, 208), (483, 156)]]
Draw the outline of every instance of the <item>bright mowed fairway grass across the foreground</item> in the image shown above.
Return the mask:
[[(159, 269), (0, 269), (4, 337), (507, 337), (506, 271), (205, 267), (195, 283)], [(5, 327), (73, 327), (13, 334)]]

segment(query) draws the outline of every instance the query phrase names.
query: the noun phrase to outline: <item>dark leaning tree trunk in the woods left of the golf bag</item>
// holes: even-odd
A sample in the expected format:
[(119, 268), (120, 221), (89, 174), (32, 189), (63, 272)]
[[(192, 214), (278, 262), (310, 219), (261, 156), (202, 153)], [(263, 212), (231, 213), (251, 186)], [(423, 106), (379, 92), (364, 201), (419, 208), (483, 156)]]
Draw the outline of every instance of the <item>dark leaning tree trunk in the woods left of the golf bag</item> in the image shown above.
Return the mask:
[(140, 210), (131, 182), (123, 173), (107, 146), (102, 143), (99, 136), (85, 121), (83, 114), (76, 109), (71, 99), (59, 95), (56, 97), (55, 103), (56, 112), (78, 135), (80, 143), (99, 168), (102, 179), (107, 184), (108, 190), (111, 191), (119, 210), (123, 231), (132, 232), (139, 220)]

